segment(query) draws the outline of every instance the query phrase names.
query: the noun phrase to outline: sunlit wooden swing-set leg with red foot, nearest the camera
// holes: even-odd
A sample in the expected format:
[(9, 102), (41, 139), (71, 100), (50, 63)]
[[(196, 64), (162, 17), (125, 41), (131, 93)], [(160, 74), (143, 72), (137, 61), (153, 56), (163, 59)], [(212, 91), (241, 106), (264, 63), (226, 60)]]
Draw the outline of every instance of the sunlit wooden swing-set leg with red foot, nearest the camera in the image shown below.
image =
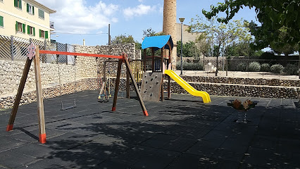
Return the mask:
[(42, 96), (42, 80), (41, 68), (39, 64), (39, 46), (36, 46), (35, 51), (35, 86), (37, 89), (37, 116), (39, 118), (39, 142), (46, 143), (46, 129), (44, 118), (44, 104)]

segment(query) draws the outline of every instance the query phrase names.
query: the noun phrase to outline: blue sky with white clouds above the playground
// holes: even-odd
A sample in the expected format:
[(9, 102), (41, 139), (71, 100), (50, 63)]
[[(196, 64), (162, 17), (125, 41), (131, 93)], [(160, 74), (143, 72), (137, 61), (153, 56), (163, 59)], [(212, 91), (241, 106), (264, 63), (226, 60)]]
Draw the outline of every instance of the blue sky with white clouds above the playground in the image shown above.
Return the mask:
[[(63, 44), (87, 46), (108, 44), (108, 24), (111, 24), (111, 38), (118, 35), (132, 35), (142, 43), (143, 30), (150, 27), (155, 32), (163, 30), (163, 0), (36, 0), (48, 8), (56, 10), (50, 15), (54, 21), (56, 34), (51, 39)], [(177, 0), (178, 18), (185, 18), (189, 25), (191, 18), (203, 15), (211, 5), (224, 0)], [(248, 7), (235, 15), (234, 20), (256, 20), (254, 9)]]

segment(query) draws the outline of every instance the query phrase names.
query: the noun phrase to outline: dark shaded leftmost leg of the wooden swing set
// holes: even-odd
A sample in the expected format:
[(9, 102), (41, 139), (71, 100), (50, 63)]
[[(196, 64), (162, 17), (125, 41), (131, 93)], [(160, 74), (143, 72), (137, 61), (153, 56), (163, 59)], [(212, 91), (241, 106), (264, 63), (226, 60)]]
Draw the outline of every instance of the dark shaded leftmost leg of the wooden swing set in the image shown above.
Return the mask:
[(17, 111), (18, 111), (18, 108), (19, 108), (21, 96), (23, 94), (23, 90), (24, 90), (24, 87), (25, 87), (25, 82), (26, 82), (27, 75), (28, 75), (29, 70), (30, 70), (31, 63), (32, 63), (32, 60), (27, 58), (26, 63), (25, 63), (25, 68), (23, 70), (23, 75), (22, 75), (21, 80), (20, 80), (17, 96), (15, 96), (15, 102), (13, 103), (13, 110), (11, 110), (11, 117), (9, 118), (8, 125), (6, 127), (6, 131), (13, 130), (13, 123), (15, 122), (15, 115), (17, 115)]

